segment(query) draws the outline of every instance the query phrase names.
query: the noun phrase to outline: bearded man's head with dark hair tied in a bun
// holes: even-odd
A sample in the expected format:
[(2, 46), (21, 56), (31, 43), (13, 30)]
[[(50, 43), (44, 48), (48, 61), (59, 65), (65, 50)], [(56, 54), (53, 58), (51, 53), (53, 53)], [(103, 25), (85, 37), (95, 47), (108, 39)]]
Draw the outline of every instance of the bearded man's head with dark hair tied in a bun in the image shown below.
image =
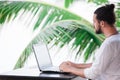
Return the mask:
[(114, 4), (102, 6), (95, 10), (93, 23), (97, 34), (102, 33), (105, 24), (113, 26), (115, 23)]

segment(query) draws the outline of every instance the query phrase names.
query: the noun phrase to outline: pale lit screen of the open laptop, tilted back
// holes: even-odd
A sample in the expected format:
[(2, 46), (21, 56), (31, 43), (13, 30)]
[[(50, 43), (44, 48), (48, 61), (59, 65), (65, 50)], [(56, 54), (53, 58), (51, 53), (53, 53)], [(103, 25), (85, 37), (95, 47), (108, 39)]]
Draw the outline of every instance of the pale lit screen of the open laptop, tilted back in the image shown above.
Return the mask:
[(33, 44), (33, 51), (39, 68), (52, 66), (52, 61), (46, 44)]

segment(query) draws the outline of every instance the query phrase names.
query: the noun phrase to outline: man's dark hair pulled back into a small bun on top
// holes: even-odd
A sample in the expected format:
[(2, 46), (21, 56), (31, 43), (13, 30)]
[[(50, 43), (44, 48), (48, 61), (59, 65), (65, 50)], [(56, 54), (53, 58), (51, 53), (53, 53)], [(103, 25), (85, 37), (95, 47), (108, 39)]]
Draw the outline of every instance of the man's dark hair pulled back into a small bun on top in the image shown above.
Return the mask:
[(114, 13), (114, 4), (107, 4), (95, 10), (96, 18), (101, 21), (106, 21), (108, 24), (115, 23), (115, 13)]

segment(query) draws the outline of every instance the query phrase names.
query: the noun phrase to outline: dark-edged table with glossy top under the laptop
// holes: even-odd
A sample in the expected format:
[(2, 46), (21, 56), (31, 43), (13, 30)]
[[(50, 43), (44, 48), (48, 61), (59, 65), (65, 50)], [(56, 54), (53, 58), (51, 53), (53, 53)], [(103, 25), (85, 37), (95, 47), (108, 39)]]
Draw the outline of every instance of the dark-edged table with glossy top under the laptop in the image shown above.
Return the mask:
[(72, 74), (41, 73), (38, 68), (21, 68), (0, 74), (0, 80), (86, 80)]

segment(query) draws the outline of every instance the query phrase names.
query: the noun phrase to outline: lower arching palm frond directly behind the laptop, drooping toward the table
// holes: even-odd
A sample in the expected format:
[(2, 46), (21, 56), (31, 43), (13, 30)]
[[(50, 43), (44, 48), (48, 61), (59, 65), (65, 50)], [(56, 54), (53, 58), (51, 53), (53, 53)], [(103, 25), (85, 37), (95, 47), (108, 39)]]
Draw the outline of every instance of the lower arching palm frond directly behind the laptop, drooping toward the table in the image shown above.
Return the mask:
[[(30, 47), (32, 47), (33, 43), (38, 43), (39, 41), (43, 41), (47, 44), (54, 42), (53, 45), (58, 45), (60, 48), (70, 44), (73, 41), (71, 49), (75, 50), (77, 47), (80, 46), (78, 52), (76, 53), (76, 56), (80, 55), (81, 52), (83, 51), (85, 61), (91, 56), (91, 54), (93, 54), (95, 49), (99, 47), (100, 44), (102, 43), (102, 40), (95, 35), (93, 29), (91, 29), (89, 26), (85, 24), (83, 26), (83, 24), (81, 24), (80, 21), (79, 23), (77, 21), (71, 20), (60, 21), (54, 23), (49, 27), (41, 29), (38, 35), (33, 39), (33, 41), (28, 45), (28, 47), (26, 47), (25, 51), (19, 58), (20, 60), (18, 61), (18, 63), (22, 61), (22, 64), (24, 64), (25, 60), (21, 60), (21, 58), (25, 58), (24, 56), (25, 54), (30, 55), (32, 48), (31, 50), (29, 50), (30, 53), (27, 52), (27, 50), (30, 49)], [(18, 64), (16, 64), (15, 68), (18, 67), (21, 67), (21, 65), (18, 66)]]

